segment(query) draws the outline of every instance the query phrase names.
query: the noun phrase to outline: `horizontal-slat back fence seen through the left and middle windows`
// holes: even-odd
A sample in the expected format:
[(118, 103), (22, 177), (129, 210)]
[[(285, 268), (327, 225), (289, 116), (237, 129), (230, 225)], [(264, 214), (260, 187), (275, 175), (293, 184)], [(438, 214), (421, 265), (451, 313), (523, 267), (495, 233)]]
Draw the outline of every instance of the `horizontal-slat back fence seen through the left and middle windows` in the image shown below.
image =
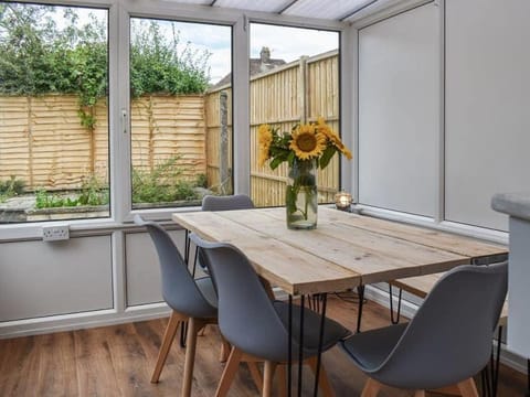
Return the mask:
[[(26, 189), (78, 189), (86, 176), (108, 183), (108, 114), (95, 109), (94, 128), (78, 117), (77, 97), (0, 97), (0, 180)], [(203, 96), (146, 96), (131, 104), (132, 165), (151, 170), (179, 157), (184, 175), (205, 173)]]

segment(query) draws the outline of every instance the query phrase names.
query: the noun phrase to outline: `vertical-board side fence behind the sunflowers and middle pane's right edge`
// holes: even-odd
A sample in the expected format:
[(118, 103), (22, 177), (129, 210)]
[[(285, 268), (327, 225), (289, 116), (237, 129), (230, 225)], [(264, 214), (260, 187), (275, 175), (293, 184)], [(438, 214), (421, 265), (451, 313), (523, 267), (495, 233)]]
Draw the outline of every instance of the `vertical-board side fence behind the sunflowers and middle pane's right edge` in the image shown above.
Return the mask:
[[(251, 77), (251, 196), (258, 206), (285, 204), (287, 165), (276, 170), (258, 165), (257, 127), (269, 124), (289, 131), (299, 121), (324, 117), (339, 131), (339, 60), (336, 51), (274, 68)], [(221, 124), (219, 97), (230, 85), (210, 92), (205, 97), (208, 178), (219, 180), (219, 141)], [(229, 107), (230, 111), (230, 107)], [(232, 118), (229, 117), (229, 120)], [(232, 126), (229, 126), (230, 128)], [(336, 155), (325, 170), (318, 172), (319, 201), (333, 201), (339, 186), (339, 159)]]

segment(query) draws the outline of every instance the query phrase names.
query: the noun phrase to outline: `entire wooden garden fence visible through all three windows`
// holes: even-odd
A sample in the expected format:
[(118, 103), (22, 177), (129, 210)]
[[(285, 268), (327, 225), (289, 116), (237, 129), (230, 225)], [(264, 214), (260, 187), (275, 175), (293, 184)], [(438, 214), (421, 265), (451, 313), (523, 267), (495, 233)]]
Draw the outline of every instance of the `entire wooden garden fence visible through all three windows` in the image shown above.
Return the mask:
[[(330, 52), (252, 76), (251, 195), (256, 205), (283, 205), (287, 181), (286, 164), (274, 171), (268, 165), (258, 167), (257, 127), (266, 122), (290, 130), (296, 122), (321, 116), (338, 131), (338, 64), (337, 52)], [(232, 103), (230, 85), (205, 96), (152, 95), (134, 100), (132, 165), (152, 170), (177, 155), (184, 175), (206, 174), (209, 185), (230, 193), (231, 181), (222, 181), (220, 172), (232, 168), (232, 158), (226, 155), (232, 152), (232, 109), (220, 106), (223, 96), (226, 104)], [(13, 175), (24, 180), (30, 190), (78, 189), (91, 174), (107, 183), (106, 101), (95, 107), (94, 128), (81, 126), (77, 112), (75, 96), (0, 97), (0, 180)], [(227, 151), (221, 150), (223, 136), (227, 138)], [(319, 201), (332, 201), (338, 185), (336, 155), (319, 170)]]

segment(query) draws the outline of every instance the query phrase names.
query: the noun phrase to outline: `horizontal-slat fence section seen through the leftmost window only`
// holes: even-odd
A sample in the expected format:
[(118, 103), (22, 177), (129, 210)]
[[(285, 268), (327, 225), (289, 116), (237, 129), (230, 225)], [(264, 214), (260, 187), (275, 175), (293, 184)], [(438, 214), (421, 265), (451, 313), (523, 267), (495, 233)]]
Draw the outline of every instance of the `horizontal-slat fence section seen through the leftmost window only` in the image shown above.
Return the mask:
[[(107, 127), (81, 126), (77, 97), (0, 97), (0, 179), (63, 189), (78, 186), (96, 170), (106, 172)], [(106, 124), (104, 106), (94, 116)]]

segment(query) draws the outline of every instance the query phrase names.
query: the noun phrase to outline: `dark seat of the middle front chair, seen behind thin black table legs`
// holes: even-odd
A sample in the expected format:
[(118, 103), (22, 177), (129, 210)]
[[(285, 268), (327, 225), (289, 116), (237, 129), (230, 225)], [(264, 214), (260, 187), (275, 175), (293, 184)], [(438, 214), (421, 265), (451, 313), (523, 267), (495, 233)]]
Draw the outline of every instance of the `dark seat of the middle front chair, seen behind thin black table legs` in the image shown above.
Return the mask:
[[(285, 328), (289, 324), (289, 304), (282, 301), (274, 302), (274, 309)], [(298, 342), (300, 335), (300, 311), (299, 305), (293, 305), (293, 339)], [(304, 308), (304, 348), (307, 355), (318, 352), (319, 331), (321, 315), (312, 310)], [(350, 335), (350, 331), (338, 322), (326, 318), (324, 325), (322, 352), (332, 347), (337, 342)], [(295, 346), (294, 346), (295, 348)]]

